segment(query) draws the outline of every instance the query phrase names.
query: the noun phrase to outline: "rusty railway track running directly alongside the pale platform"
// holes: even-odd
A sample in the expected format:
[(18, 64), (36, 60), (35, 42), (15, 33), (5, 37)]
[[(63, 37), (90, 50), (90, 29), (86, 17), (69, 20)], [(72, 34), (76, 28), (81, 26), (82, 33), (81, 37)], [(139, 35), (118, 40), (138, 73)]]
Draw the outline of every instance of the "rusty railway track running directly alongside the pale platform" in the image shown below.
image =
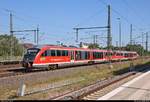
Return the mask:
[[(97, 100), (99, 97), (102, 96), (102, 94), (104, 93), (106, 94), (106, 92), (104, 92), (105, 90), (102, 90), (102, 89), (106, 88), (106, 91), (108, 91), (107, 90), (108, 86), (111, 86), (111, 85), (116, 86), (116, 83), (121, 82), (121, 81), (123, 83), (123, 80), (124, 82), (126, 82), (127, 80), (129, 81), (132, 78), (141, 74), (138, 72), (144, 72), (148, 68), (149, 66), (144, 66), (138, 70), (128, 72), (120, 76), (116, 76), (112, 78), (110, 77), (108, 79), (101, 80), (97, 83), (84, 87), (80, 90), (76, 90), (76, 91), (68, 92), (63, 95), (56, 96), (53, 98), (53, 100)], [(129, 78), (129, 77), (132, 77), (132, 78)]]

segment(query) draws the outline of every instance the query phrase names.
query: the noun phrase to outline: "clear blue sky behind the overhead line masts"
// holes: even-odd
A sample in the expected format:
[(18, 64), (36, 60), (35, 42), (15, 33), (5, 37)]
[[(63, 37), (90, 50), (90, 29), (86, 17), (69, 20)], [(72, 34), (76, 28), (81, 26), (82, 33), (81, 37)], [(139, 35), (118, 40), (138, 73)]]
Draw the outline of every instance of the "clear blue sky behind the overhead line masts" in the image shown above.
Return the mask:
[[(130, 24), (133, 24), (133, 36), (137, 37), (150, 28), (150, 0), (0, 0), (0, 32), (9, 32), (9, 13), (14, 14), (14, 30), (35, 29), (40, 27), (40, 44), (75, 43), (74, 27), (106, 26), (107, 7), (112, 7), (113, 45), (119, 40), (118, 20), (122, 23), (122, 45), (129, 43)], [(98, 42), (105, 46), (105, 29), (83, 30), (79, 39), (92, 42), (92, 36), (99, 35)], [(33, 33), (16, 35), (26, 37), (24, 42), (33, 42)], [(85, 39), (91, 38), (91, 39)], [(140, 42), (141, 38), (136, 42)]]

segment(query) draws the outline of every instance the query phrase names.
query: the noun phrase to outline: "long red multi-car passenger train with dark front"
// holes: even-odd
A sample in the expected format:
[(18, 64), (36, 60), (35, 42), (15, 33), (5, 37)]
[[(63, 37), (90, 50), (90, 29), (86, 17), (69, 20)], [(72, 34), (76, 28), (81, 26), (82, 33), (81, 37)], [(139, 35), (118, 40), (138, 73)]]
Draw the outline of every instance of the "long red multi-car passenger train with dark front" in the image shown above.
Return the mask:
[(136, 59), (139, 55), (129, 51), (107, 51), (60, 46), (38, 46), (27, 49), (23, 58), (23, 67), (56, 69), (62, 65), (76, 65), (97, 62)]

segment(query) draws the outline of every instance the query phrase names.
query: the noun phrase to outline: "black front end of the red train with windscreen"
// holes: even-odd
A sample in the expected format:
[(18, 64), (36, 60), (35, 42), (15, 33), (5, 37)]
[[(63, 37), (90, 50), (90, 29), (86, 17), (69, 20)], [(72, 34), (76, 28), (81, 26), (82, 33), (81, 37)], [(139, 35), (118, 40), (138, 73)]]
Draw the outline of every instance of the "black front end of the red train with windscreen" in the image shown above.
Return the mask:
[(34, 62), (34, 59), (38, 52), (39, 48), (29, 48), (27, 49), (27, 53), (23, 57), (22, 66), (25, 68), (31, 68)]

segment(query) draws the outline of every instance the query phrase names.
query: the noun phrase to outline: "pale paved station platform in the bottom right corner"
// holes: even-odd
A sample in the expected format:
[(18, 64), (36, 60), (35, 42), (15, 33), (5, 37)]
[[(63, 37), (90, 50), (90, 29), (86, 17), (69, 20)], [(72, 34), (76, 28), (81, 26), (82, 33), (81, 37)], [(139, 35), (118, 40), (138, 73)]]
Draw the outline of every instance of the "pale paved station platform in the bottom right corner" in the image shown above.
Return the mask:
[(150, 70), (142, 73), (98, 100), (150, 100)]

